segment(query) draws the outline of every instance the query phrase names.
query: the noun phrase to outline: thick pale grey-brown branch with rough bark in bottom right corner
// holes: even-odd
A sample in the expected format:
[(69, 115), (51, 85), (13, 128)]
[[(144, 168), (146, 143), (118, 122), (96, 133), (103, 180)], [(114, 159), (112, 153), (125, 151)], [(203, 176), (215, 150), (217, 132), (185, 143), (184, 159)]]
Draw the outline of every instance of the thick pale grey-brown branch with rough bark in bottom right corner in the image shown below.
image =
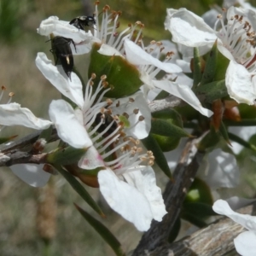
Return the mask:
[[(255, 215), (256, 203), (252, 206), (243, 207), (239, 211), (242, 214)], [(220, 256), (230, 253), (235, 249), (234, 238), (245, 231), (240, 224), (236, 224), (230, 218), (219, 218), (206, 228), (186, 236), (180, 241), (172, 244), (162, 244), (154, 251), (142, 254), (148, 256), (195, 256), (195, 255), (214, 255)]]

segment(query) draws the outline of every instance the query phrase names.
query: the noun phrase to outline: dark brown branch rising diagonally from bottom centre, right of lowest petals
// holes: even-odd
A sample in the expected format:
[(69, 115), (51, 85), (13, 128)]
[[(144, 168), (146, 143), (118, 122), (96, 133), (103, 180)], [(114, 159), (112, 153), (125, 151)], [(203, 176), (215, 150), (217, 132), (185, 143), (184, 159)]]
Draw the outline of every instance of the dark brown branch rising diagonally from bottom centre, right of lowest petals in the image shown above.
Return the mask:
[(167, 238), (179, 216), (185, 195), (194, 181), (195, 174), (205, 155), (205, 153), (197, 150), (195, 147), (196, 143), (198, 143), (198, 140), (192, 139), (186, 144), (173, 174), (174, 182), (170, 181), (166, 185), (163, 198), (168, 213), (161, 222), (152, 222), (150, 229), (143, 235), (132, 254), (133, 256), (148, 255), (156, 247), (167, 244)]

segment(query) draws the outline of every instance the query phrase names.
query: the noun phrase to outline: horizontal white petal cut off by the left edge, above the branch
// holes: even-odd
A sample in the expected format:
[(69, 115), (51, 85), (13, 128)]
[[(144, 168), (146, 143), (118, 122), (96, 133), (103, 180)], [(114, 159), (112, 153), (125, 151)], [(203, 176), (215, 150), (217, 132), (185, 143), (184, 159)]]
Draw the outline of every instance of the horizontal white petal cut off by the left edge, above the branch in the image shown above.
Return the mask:
[(28, 108), (21, 108), (18, 103), (0, 105), (1, 125), (23, 125), (32, 129), (47, 129), (52, 122), (38, 119)]

